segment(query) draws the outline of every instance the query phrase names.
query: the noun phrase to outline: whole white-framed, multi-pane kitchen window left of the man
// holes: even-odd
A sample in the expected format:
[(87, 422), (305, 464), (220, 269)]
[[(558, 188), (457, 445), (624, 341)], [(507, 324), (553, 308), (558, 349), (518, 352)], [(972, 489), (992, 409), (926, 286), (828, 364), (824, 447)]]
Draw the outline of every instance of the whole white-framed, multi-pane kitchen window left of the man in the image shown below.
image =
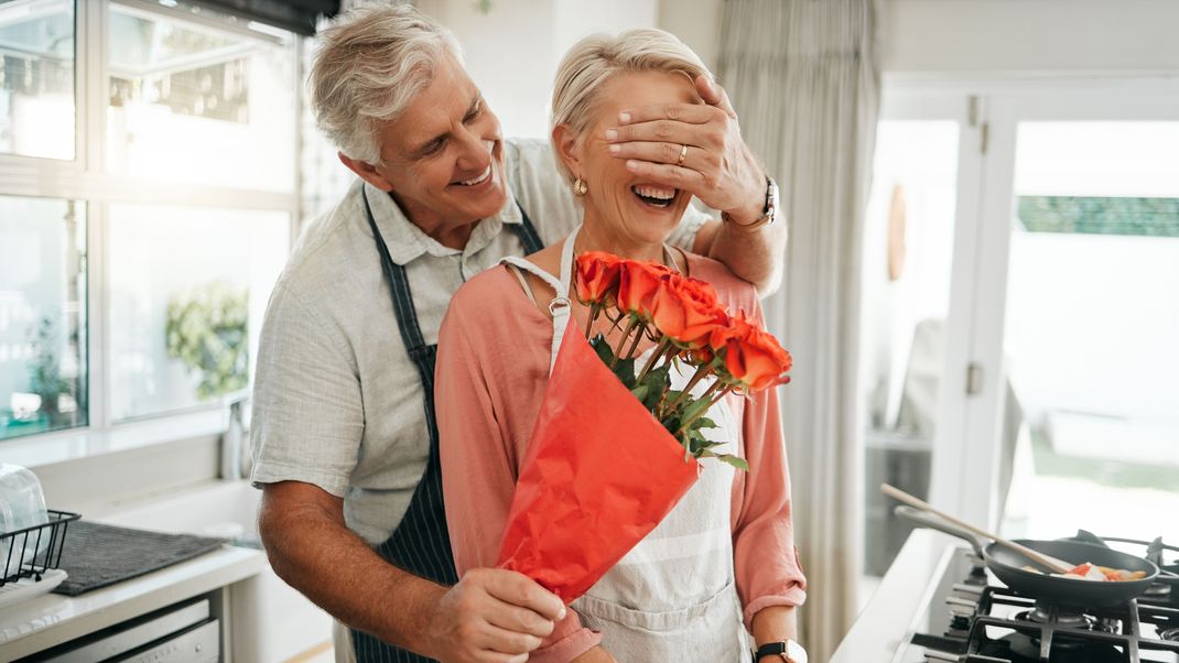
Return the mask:
[(303, 55), (186, 2), (0, 0), (8, 459), (224, 425), (303, 210)]

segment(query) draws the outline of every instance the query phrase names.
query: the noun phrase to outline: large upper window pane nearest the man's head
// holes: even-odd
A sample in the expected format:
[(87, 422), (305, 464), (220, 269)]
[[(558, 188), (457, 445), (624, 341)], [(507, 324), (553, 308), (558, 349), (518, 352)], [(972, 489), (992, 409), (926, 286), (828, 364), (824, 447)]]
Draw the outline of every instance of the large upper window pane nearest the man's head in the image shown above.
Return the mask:
[(110, 173), (294, 191), (291, 38), (112, 4), (107, 45)]

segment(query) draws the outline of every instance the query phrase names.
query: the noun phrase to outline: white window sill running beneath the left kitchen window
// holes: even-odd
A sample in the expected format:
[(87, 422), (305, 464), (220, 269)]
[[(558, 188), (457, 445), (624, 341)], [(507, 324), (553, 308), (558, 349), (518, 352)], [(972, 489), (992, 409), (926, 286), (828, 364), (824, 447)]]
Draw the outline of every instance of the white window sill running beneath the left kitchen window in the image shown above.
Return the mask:
[(116, 424), (108, 429), (77, 429), (0, 442), (5, 463), (35, 469), (106, 453), (141, 449), (202, 436), (229, 426), (224, 407)]

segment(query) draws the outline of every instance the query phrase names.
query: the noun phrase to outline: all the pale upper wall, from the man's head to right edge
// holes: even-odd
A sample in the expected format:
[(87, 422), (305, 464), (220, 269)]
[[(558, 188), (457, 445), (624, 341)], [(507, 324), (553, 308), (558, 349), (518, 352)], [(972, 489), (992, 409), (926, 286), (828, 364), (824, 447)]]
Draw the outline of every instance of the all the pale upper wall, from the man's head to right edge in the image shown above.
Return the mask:
[[(658, 26), (713, 71), (724, 0), (419, 0), (454, 31), (507, 135), (545, 138), (553, 74), (577, 39)], [(1179, 72), (1175, 0), (883, 0), (885, 72)], [(722, 81), (724, 84), (724, 81)], [(739, 108), (738, 108), (739, 111)]]

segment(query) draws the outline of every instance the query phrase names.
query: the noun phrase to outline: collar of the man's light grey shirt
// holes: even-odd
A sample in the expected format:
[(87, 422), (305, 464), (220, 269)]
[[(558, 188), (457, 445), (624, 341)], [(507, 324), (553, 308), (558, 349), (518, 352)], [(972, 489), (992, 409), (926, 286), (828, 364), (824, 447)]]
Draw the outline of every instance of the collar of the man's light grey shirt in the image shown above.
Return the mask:
[(520, 207), (508, 187), (508, 198), (499, 212), (488, 217), (475, 226), (467, 240), (467, 246), (462, 251), (450, 248), (439, 244), (436, 239), (422, 232), (406, 217), (401, 207), (393, 199), (393, 195), (381, 191), (371, 184), (363, 183), (364, 195), (373, 208), (373, 218), (377, 228), (384, 238), (384, 244), (389, 248), (389, 257), (397, 265), (404, 266), (423, 253), (430, 256), (470, 256), (486, 248), (495, 236), (500, 233), (505, 224), (519, 225), (523, 223), (520, 216)]

